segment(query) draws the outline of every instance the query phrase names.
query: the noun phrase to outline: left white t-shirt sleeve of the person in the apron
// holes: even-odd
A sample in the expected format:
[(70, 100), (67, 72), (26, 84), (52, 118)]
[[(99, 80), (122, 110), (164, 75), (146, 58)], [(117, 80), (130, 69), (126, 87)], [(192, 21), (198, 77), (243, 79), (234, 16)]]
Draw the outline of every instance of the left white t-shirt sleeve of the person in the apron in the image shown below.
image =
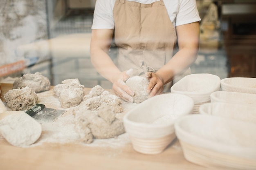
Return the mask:
[(113, 7), (115, 0), (97, 0), (95, 4), (92, 29), (114, 29)]

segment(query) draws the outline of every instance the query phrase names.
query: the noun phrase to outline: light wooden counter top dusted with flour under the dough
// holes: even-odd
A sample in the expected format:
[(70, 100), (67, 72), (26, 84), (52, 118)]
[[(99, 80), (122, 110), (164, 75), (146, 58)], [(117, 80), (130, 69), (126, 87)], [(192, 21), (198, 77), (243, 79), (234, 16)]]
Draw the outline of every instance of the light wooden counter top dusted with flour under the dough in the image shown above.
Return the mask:
[[(2, 96), (12, 88), (12, 84), (1, 86)], [(133, 150), (126, 133), (84, 144), (72, 131), (72, 108), (60, 108), (52, 88), (38, 93), (39, 103), (67, 111), (53, 123), (42, 124), (41, 137), (29, 147), (12, 146), (0, 135), (1, 170), (209, 170), (186, 161), (178, 139), (157, 155), (144, 155)], [(90, 88), (85, 88), (86, 94), (89, 91)], [(117, 116), (122, 117), (132, 106), (124, 108), (124, 113), (118, 113)]]

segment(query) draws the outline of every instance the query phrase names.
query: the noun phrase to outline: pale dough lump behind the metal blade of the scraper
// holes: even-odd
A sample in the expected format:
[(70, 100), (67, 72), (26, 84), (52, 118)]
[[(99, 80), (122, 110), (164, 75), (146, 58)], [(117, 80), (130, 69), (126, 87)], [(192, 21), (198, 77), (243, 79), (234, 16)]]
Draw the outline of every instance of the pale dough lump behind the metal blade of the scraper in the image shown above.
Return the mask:
[(66, 79), (63, 84), (57, 84), (53, 91), (59, 97), (62, 108), (70, 108), (81, 103), (84, 96), (84, 86), (78, 79)]

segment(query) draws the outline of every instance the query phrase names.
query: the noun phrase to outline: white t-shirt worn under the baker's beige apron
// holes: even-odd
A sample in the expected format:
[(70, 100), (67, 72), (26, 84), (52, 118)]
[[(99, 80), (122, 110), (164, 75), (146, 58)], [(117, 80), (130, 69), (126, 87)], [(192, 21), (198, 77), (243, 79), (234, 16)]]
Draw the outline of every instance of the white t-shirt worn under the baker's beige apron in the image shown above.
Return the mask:
[[(97, 0), (94, 9), (92, 29), (115, 29), (113, 8), (116, 0)], [(159, 0), (129, 0), (151, 4)], [(195, 0), (164, 0), (170, 20), (174, 26), (200, 21)]]

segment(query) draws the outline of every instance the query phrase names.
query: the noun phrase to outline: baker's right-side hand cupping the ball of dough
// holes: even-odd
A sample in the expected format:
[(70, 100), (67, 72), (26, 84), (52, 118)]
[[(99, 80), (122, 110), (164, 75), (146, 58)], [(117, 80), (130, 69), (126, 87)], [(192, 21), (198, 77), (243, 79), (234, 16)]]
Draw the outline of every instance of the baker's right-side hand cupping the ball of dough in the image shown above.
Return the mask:
[(156, 73), (152, 72), (147, 72), (146, 77), (149, 80), (147, 88), (147, 93), (149, 93), (148, 98), (162, 94), (164, 90), (164, 83), (162, 78), (159, 77)]

